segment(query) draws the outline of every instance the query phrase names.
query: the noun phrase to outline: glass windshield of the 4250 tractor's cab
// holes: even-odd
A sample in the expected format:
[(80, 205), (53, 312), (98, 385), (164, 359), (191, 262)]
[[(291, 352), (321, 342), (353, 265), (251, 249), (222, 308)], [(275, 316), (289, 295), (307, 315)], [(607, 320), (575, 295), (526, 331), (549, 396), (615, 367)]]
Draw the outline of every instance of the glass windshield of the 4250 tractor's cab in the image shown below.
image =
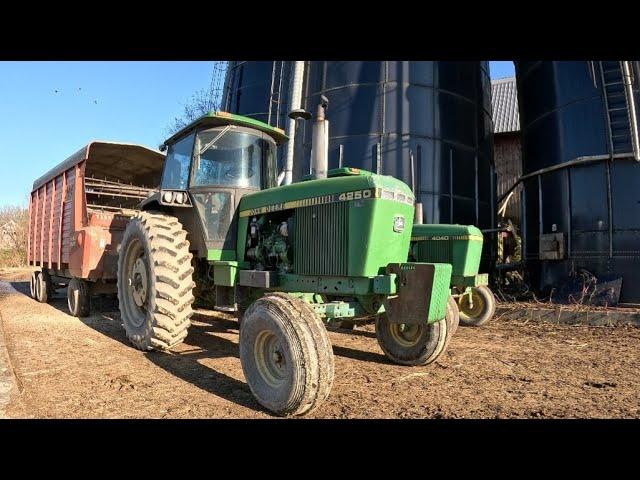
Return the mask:
[[(261, 132), (242, 127), (219, 127), (198, 133), (194, 149), (192, 186), (223, 185), (262, 188), (262, 167), (269, 175), (275, 143)], [(270, 185), (265, 185), (270, 186)]]

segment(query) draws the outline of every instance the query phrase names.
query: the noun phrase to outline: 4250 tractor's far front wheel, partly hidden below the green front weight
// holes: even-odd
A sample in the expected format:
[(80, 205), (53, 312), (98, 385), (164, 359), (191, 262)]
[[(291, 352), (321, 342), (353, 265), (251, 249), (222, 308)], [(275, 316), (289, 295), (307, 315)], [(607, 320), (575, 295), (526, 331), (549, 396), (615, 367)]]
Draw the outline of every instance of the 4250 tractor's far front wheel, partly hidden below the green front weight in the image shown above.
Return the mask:
[(400, 365), (427, 365), (444, 353), (449, 343), (447, 318), (435, 323), (405, 324), (376, 317), (376, 338), (385, 355)]

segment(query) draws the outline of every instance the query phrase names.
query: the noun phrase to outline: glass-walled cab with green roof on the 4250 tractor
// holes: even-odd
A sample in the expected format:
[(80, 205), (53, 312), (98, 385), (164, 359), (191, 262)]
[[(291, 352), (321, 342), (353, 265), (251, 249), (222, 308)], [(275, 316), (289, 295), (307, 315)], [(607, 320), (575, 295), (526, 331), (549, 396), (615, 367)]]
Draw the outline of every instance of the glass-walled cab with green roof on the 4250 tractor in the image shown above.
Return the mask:
[[(208, 113), (161, 146), (167, 158), (153, 201), (183, 223), (196, 223), (192, 231), (201, 231), (202, 238), (190, 240), (199, 256), (233, 260), (238, 203), (249, 193), (276, 186), (276, 147), (286, 140), (282, 130), (258, 120)], [(193, 210), (188, 214), (184, 207)]]

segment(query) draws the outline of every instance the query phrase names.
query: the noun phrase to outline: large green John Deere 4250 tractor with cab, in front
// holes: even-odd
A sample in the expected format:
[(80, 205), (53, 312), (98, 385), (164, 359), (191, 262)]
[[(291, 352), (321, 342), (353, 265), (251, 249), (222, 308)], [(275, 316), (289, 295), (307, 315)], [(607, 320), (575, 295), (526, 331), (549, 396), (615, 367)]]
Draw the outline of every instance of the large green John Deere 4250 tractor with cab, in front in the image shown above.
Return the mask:
[(280, 129), (210, 113), (165, 144), (160, 189), (140, 205), (119, 250), (127, 337), (167, 350), (187, 336), (196, 289), (237, 305), (240, 361), (257, 401), (303, 415), (328, 396), (325, 324), (375, 318), (389, 359), (425, 365), (457, 322), (451, 265), (407, 262), (414, 199), (388, 176), (327, 172), (326, 102), (314, 121), (309, 179), (276, 186)]

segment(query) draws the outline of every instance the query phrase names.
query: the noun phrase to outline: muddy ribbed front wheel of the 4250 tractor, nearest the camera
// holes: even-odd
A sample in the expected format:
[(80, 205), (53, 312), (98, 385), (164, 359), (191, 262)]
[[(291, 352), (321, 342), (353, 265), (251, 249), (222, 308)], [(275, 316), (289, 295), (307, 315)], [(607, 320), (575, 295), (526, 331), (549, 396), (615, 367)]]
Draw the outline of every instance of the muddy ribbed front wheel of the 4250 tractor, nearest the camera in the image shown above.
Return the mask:
[(268, 293), (247, 310), (240, 361), (258, 402), (281, 416), (308, 414), (329, 396), (333, 350), (320, 318), (302, 300)]

